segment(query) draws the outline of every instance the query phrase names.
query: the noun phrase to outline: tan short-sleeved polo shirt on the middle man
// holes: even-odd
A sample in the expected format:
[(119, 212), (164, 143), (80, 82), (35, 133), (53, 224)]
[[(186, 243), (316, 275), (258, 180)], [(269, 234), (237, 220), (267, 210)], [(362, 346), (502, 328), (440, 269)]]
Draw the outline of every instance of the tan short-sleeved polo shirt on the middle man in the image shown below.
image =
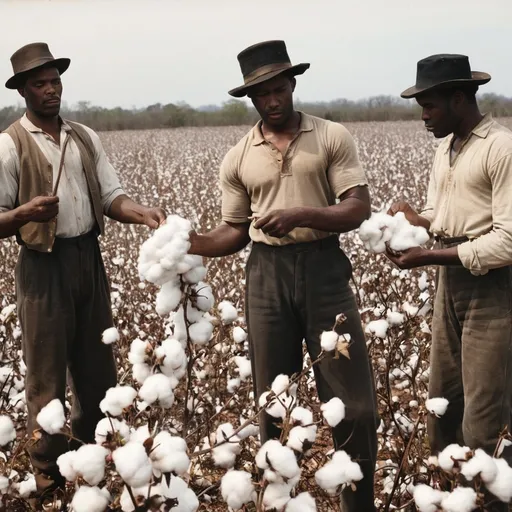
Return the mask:
[[(301, 114), (299, 131), (286, 154), (263, 138), (261, 121), (224, 157), (220, 169), (222, 220), (248, 222), (272, 210), (327, 207), (348, 189), (367, 185), (355, 142), (338, 123)], [(288, 245), (331, 233), (295, 228), (284, 238), (265, 235), (251, 223), (255, 242)]]

